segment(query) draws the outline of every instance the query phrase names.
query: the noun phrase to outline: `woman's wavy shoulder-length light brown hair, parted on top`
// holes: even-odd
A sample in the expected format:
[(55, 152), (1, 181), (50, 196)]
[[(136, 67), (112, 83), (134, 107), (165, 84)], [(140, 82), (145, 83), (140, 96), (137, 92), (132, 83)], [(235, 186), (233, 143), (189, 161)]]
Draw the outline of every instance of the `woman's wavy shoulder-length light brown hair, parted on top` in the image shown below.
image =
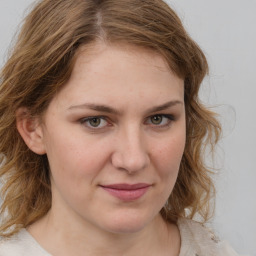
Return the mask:
[(41, 116), (69, 79), (77, 50), (103, 40), (160, 53), (184, 79), (186, 146), (179, 175), (161, 210), (168, 221), (209, 217), (214, 195), (205, 146), (216, 144), (220, 125), (198, 98), (208, 73), (206, 58), (162, 0), (42, 0), (26, 17), (0, 76), (0, 235), (10, 236), (44, 216), (51, 207), (46, 155), (29, 150), (16, 128), (16, 111)]

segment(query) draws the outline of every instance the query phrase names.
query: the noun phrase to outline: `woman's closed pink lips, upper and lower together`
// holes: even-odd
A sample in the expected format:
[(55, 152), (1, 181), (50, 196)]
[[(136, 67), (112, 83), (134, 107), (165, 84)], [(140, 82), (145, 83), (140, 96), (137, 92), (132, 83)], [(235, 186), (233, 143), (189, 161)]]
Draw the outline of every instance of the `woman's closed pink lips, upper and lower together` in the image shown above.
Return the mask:
[(151, 185), (146, 183), (138, 184), (111, 184), (101, 187), (109, 194), (123, 201), (134, 201), (142, 197)]

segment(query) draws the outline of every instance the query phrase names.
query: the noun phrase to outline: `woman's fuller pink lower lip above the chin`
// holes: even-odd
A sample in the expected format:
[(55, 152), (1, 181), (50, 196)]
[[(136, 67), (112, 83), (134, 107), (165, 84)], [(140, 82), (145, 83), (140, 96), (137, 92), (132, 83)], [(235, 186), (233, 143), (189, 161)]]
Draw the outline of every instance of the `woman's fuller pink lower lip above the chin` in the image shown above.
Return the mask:
[(108, 188), (108, 187), (102, 187), (102, 188), (105, 191), (107, 191), (110, 195), (123, 201), (135, 201), (141, 198), (149, 189), (149, 187), (131, 189), (131, 190), (114, 189), (114, 188)]

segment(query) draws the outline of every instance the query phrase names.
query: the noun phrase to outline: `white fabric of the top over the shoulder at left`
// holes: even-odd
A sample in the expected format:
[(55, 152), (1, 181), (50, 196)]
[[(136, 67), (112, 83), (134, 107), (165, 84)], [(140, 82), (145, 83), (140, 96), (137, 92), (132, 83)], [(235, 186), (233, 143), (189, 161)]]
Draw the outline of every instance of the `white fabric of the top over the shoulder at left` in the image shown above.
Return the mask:
[(0, 238), (0, 256), (50, 256), (22, 229), (10, 238)]

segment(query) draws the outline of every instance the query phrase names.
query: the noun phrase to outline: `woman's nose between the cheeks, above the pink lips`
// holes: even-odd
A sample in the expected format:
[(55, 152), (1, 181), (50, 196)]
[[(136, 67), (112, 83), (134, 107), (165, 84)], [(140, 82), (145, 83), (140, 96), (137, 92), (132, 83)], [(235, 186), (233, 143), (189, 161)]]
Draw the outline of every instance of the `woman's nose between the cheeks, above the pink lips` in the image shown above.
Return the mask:
[(112, 164), (115, 168), (132, 174), (144, 170), (149, 165), (150, 157), (146, 149), (146, 139), (141, 133), (139, 129), (120, 132), (112, 154)]

